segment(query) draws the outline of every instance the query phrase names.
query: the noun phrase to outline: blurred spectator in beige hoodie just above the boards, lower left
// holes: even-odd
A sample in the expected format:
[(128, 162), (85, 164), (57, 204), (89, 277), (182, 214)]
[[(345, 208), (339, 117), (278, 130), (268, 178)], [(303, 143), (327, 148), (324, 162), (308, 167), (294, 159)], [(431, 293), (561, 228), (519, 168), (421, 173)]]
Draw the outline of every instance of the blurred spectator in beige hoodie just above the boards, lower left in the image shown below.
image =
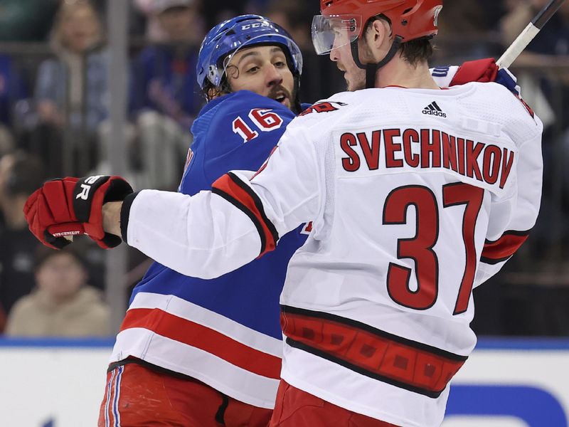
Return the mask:
[(87, 270), (78, 251), (38, 248), (37, 288), (21, 298), (8, 317), (12, 337), (105, 337), (110, 309), (100, 292), (87, 285)]

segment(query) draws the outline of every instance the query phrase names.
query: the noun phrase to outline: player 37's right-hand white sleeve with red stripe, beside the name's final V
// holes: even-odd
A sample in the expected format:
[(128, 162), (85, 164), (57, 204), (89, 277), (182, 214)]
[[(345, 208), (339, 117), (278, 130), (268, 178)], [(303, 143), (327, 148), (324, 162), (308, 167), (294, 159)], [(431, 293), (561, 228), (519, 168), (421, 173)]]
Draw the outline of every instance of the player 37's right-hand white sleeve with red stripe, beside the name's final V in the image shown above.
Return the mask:
[(515, 164), (517, 184), (514, 195), (504, 201), (493, 201), (489, 231), (480, 257), (475, 285), (484, 283), (499, 272), (527, 240), (536, 223), (543, 179), (543, 125), (537, 117), (536, 128), (538, 132), (533, 132), (534, 136), (519, 146), (519, 158)]

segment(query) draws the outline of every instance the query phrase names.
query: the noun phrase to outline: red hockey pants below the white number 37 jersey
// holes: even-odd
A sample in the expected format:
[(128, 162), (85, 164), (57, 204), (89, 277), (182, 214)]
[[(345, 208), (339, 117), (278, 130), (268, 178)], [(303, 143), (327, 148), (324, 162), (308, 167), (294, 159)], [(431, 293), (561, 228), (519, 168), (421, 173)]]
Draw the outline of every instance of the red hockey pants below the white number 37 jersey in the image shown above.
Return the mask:
[(280, 380), (269, 427), (395, 427), (340, 408)]

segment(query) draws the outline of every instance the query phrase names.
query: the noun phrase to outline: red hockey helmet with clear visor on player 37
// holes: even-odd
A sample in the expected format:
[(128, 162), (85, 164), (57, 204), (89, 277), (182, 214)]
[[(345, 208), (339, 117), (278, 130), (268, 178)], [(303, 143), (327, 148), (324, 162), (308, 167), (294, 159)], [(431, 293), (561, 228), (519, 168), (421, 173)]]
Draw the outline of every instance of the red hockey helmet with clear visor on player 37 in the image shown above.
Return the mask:
[(319, 55), (355, 41), (368, 19), (383, 14), (402, 43), (437, 35), (442, 0), (320, 0), (321, 15), (312, 21), (312, 41)]

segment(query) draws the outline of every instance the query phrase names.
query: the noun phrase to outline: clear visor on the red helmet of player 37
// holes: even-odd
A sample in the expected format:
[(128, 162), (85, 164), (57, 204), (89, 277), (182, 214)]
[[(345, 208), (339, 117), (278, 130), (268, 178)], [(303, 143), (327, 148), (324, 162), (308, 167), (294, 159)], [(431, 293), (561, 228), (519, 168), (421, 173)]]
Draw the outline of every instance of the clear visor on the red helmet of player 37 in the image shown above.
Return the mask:
[(312, 43), (318, 55), (341, 48), (358, 38), (361, 31), (359, 15), (317, 15), (312, 19)]

